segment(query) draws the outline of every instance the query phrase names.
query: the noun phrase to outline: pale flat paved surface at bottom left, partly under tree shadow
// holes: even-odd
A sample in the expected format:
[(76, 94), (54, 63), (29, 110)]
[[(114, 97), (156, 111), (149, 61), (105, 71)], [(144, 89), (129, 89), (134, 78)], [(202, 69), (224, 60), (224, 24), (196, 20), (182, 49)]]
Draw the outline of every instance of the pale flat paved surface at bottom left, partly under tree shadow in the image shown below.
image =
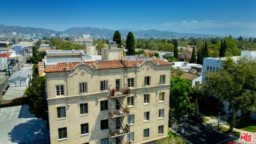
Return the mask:
[(0, 143), (50, 143), (46, 122), (28, 105), (0, 108)]

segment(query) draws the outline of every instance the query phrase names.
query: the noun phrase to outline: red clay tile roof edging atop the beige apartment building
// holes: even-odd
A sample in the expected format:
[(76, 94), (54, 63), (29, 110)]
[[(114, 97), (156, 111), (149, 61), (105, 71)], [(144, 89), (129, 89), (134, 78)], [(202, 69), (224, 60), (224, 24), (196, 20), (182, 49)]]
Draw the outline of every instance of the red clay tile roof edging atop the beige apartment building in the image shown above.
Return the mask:
[[(141, 65), (144, 61), (146, 61), (146, 59), (138, 60), (138, 64)], [(149, 61), (157, 64), (157, 59), (151, 59)], [(84, 61), (83, 63), (94, 69), (124, 68), (125, 65), (128, 68), (136, 66), (136, 60), (131, 60), (131, 61), (123, 60), (123, 62), (121, 60), (98, 61), (98, 68), (96, 68), (96, 61)], [(81, 62), (68, 62), (68, 68), (69, 68), (68, 71), (70, 71), (70, 69), (72, 68), (75, 68), (79, 64), (81, 64)], [(158, 65), (160, 66), (171, 65), (171, 63), (163, 60), (159, 60)], [(45, 73), (63, 72), (63, 71), (66, 71), (66, 62), (58, 63), (57, 65), (46, 68), (44, 70)]]

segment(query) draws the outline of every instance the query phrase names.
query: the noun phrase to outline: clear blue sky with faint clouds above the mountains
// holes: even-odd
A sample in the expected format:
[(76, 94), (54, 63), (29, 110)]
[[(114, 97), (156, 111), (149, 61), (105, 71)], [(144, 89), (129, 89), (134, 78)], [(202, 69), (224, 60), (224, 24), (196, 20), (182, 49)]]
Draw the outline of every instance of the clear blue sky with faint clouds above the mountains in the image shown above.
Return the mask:
[(53, 30), (70, 27), (157, 29), (256, 37), (256, 1), (4, 1), (0, 23)]

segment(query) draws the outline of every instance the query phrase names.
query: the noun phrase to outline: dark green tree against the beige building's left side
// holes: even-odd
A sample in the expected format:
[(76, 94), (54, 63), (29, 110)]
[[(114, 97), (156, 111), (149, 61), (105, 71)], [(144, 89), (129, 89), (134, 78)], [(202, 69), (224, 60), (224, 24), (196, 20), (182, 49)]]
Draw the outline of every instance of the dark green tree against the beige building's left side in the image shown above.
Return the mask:
[(32, 85), (26, 90), (29, 111), (37, 118), (48, 120), (48, 107), (45, 94), (45, 77), (34, 77)]

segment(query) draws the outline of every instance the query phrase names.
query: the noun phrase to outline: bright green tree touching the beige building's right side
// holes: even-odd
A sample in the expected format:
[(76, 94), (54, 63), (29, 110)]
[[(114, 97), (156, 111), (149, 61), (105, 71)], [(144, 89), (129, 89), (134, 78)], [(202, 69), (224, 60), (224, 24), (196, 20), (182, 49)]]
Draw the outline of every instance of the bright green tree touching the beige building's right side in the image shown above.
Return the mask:
[(181, 123), (181, 117), (194, 113), (195, 105), (189, 101), (190, 82), (179, 76), (171, 77), (169, 125)]

